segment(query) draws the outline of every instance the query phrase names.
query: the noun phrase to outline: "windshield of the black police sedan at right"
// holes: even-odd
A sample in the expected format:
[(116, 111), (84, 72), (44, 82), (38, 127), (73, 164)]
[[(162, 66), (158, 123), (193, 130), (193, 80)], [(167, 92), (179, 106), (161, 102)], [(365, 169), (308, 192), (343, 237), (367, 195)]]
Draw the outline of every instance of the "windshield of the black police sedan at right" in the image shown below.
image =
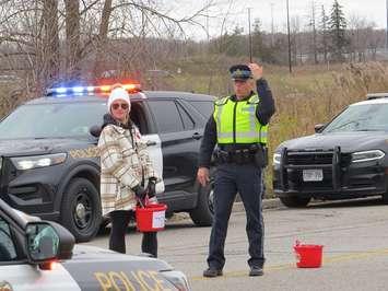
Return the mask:
[(349, 106), (322, 131), (388, 131), (388, 103)]

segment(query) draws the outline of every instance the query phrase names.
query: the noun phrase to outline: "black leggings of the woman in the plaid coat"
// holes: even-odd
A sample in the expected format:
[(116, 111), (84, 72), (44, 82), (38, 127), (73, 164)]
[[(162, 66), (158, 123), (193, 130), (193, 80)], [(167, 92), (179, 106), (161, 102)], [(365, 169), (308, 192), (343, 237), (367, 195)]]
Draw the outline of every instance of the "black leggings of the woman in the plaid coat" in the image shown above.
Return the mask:
[[(110, 212), (111, 230), (109, 237), (109, 249), (126, 254), (126, 231), (131, 218), (133, 218), (132, 211), (116, 210)], [(156, 232), (143, 233), (141, 252), (149, 253), (154, 257), (157, 257)]]

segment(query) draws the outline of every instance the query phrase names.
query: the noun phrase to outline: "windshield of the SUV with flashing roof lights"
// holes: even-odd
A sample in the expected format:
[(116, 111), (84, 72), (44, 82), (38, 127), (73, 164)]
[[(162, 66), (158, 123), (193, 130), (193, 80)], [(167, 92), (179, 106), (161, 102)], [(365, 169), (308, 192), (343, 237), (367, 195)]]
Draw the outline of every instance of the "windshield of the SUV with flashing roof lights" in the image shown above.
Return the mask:
[(23, 105), (0, 123), (0, 139), (87, 137), (105, 113), (103, 102)]

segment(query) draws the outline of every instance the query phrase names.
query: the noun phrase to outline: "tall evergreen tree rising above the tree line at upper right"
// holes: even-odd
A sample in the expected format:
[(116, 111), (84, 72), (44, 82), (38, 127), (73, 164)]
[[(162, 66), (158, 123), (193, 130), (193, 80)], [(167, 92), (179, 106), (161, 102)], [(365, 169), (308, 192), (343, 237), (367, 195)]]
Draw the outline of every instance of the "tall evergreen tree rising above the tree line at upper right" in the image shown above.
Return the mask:
[(342, 5), (340, 5), (338, 0), (334, 0), (334, 3), (331, 8), (329, 30), (332, 43), (332, 57), (337, 61), (343, 61), (343, 54), (345, 53), (345, 48), (349, 45), (349, 40), (345, 36), (346, 19), (344, 18)]

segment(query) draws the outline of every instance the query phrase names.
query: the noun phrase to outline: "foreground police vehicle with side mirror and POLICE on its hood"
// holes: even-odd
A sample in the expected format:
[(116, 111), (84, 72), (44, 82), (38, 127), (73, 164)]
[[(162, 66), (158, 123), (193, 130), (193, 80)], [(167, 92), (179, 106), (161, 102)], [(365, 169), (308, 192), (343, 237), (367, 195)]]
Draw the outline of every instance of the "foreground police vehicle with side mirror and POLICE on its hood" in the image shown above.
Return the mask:
[(63, 226), (0, 199), (0, 290), (189, 290), (164, 260), (73, 246)]

